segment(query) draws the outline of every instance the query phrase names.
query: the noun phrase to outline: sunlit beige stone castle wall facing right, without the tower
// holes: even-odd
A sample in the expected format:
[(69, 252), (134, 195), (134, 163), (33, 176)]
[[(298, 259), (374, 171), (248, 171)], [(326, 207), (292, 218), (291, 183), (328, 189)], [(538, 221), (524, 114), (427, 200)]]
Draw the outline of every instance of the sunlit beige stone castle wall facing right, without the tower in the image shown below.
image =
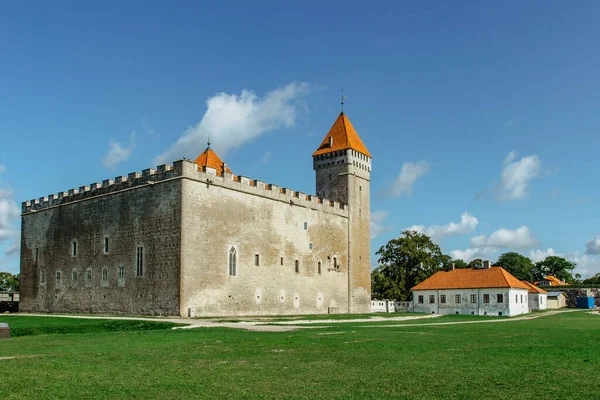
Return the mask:
[[(347, 207), (282, 194), (261, 182), (249, 195), (246, 183), (229, 174), (206, 182), (193, 166), (184, 163), (183, 169), (182, 314), (346, 312)], [(229, 275), (232, 247), (235, 276)]]

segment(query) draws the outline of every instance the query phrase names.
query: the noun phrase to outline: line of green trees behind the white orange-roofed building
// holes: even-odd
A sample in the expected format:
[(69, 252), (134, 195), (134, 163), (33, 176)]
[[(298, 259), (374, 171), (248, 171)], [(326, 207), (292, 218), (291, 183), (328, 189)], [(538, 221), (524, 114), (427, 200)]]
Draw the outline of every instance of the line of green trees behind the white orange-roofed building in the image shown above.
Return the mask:
[[(403, 231), (400, 237), (381, 246), (376, 254), (379, 266), (371, 272), (371, 293), (378, 299), (411, 300), (413, 286), (438, 271), (450, 269), (452, 264), (455, 268), (483, 267), (483, 260), (479, 258), (469, 263), (452, 259), (443, 254), (429, 236), (413, 230)], [(558, 256), (548, 256), (534, 263), (529, 257), (511, 251), (502, 254), (493, 265), (501, 266), (517, 279), (532, 283), (547, 275), (566, 283), (581, 282), (579, 274), (573, 275), (577, 264)], [(600, 274), (597, 278), (600, 283)]]

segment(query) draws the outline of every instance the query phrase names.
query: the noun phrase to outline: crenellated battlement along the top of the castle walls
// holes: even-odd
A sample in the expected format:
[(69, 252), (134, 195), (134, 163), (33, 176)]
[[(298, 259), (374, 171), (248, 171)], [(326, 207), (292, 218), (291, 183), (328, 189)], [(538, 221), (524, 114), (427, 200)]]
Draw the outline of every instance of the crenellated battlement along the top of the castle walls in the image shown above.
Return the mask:
[(105, 179), (102, 183), (95, 182), (89, 186), (80, 186), (79, 188), (69, 189), (66, 192), (58, 192), (58, 194), (50, 194), (39, 199), (28, 200), (21, 204), (21, 210), (23, 214), (34, 213), (63, 204), (159, 184), (173, 179), (191, 179), (209, 186), (220, 186), (254, 196), (282, 201), (289, 203), (290, 206), (307, 207), (336, 215), (348, 216), (348, 207), (343, 203), (267, 184), (245, 176), (236, 176), (228, 172), (225, 172), (223, 175), (217, 175), (214, 168), (203, 167), (202, 170), (199, 170), (198, 165), (190, 160), (179, 160), (175, 161), (172, 166), (163, 164), (156, 167), (156, 169), (148, 168), (141, 173), (131, 172), (127, 176)]

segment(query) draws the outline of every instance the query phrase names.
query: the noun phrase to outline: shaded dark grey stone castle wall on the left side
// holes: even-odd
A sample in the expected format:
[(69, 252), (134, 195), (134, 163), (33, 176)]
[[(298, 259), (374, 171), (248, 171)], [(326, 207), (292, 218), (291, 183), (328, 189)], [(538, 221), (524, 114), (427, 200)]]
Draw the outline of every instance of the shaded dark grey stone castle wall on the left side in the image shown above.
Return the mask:
[[(23, 204), (21, 311), (179, 314), (181, 181), (150, 185), (149, 172)], [(142, 276), (136, 276), (138, 246)]]

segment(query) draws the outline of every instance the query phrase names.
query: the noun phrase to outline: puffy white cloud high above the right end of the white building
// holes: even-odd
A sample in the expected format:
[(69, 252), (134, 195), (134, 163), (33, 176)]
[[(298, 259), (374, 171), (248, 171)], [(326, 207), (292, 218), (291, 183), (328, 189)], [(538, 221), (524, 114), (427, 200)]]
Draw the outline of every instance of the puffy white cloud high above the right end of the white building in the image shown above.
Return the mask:
[(515, 161), (518, 155), (514, 151), (508, 153), (502, 170), (502, 200), (519, 200), (527, 196), (529, 183), (540, 175), (541, 161), (538, 156), (531, 155)]

